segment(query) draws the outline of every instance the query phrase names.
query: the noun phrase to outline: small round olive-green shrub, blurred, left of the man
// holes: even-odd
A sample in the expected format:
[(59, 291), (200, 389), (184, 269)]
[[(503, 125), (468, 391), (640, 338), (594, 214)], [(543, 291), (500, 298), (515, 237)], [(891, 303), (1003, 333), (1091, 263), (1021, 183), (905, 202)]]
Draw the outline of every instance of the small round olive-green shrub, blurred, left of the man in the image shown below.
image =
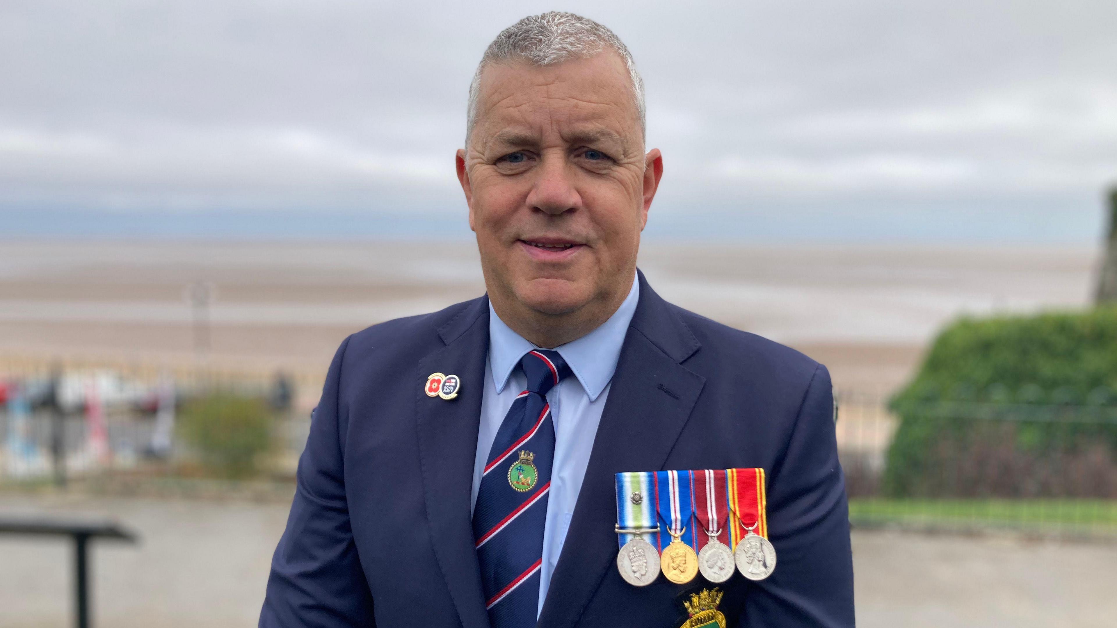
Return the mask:
[(182, 436), (221, 475), (244, 477), (271, 449), (271, 413), (262, 399), (220, 392), (187, 405)]

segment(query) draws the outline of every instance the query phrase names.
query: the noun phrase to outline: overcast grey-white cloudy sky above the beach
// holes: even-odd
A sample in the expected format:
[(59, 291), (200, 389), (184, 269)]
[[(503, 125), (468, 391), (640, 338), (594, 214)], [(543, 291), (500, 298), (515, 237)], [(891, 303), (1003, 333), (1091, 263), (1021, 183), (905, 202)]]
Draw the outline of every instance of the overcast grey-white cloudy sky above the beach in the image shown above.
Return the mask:
[(643, 74), (661, 228), (1100, 235), (1114, 0), (483, 7), (6, 0), (0, 217), (42, 234), (60, 215), (265, 211), (461, 230), (452, 158), (472, 70), (502, 28), (561, 8), (612, 28)]

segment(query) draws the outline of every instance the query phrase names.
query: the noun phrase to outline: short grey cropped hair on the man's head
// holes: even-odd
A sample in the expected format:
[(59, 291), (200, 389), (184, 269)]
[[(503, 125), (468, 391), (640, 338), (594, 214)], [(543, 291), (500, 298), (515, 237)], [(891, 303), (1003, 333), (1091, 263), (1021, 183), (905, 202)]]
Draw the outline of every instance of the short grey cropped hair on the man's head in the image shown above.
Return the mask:
[(613, 31), (582, 16), (565, 11), (548, 11), (528, 16), (496, 36), (477, 65), (469, 84), (469, 105), (466, 108), (466, 144), (477, 120), (477, 97), (481, 73), (493, 63), (523, 60), (534, 66), (550, 66), (569, 59), (592, 57), (610, 48), (620, 55), (632, 80), (632, 97), (640, 115), (640, 132), (647, 133), (643, 105), (643, 79), (636, 70), (636, 61), (628, 47)]

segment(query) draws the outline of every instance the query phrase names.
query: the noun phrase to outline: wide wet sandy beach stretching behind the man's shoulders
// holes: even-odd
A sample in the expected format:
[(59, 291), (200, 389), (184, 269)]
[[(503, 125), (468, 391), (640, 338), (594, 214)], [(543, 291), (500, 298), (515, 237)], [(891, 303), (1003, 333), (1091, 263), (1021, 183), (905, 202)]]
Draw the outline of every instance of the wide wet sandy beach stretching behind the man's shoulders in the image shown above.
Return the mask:
[[(828, 364), (844, 389), (903, 383), (964, 314), (1089, 303), (1090, 247), (746, 247), (646, 242), (663, 297)], [(211, 288), (198, 346), (191, 284)], [(474, 244), (3, 241), (0, 358), (191, 364), (321, 378), (345, 335), (484, 293)]]

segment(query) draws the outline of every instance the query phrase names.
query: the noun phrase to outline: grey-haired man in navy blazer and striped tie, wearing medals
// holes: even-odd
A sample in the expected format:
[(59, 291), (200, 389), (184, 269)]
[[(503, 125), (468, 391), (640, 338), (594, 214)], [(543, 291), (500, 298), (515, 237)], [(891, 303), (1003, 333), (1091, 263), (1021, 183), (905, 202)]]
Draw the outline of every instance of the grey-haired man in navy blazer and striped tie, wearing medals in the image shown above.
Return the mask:
[(779, 568), (719, 584), (720, 612), (853, 625), (829, 374), (637, 270), (662, 174), (643, 112), (596, 22), (534, 16), (488, 47), (457, 154), (487, 295), (342, 343), (260, 626), (676, 627), (704, 581), (621, 579), (614, 474), (752, 467)]

